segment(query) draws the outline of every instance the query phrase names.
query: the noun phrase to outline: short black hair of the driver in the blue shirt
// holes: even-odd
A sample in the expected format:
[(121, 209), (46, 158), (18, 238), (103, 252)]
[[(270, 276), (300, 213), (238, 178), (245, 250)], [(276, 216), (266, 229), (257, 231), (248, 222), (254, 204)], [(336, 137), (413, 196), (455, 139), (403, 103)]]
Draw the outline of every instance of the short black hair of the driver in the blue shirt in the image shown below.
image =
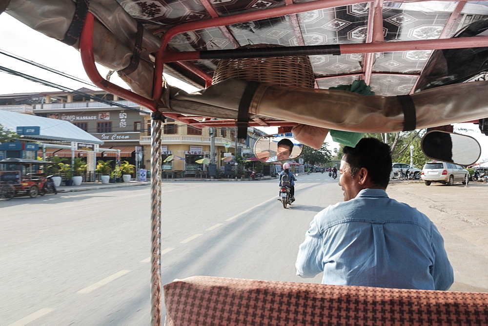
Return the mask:
[(356, 144), (356, 147), (344, 146), (343, 153), (343, 160), (351, 168), (351, 176), (364, 167), (368, 171), (371, 182), (386, 189), (391, 172), (391, 155), (388, 144), (375, 138), (363, 138)]

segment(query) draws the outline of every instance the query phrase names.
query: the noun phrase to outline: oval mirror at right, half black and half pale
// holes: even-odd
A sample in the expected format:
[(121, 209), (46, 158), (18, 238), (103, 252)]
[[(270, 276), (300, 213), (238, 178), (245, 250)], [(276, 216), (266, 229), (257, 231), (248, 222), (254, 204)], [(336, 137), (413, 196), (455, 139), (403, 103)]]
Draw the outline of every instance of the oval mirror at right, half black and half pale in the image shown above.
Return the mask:
[(481, 146), (476, 139), (447, 131), (427, 132), (420, 146), (432, 160), (464, 166), (476, 163), (481, 156)]

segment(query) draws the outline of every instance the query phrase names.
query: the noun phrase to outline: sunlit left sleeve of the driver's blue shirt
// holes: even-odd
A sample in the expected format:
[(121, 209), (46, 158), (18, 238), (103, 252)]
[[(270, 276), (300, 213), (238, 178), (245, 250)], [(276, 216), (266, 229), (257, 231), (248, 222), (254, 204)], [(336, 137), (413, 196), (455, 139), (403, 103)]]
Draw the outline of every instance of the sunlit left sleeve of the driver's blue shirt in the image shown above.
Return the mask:
[(298, 250), (295, 267), (297, 275), (302, 278), (312, 278), (324, 271), (322, 266), (323, 247), (322, 234), (317, 227), (317, 215), (310, 222), (310, 228), (305, 233), (305, 241)]

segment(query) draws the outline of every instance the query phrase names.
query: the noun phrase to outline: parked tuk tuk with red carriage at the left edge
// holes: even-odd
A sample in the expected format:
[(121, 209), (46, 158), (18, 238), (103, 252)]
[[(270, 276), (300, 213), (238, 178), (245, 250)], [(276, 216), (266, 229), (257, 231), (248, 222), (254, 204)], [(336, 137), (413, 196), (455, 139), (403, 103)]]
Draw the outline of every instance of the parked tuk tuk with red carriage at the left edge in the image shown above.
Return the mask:
[[(53, 162), (9, 158), (0, 161), (6, 164), (7, 169), (0, 170), (0, 197), (10, 200), (18, 196), (36, 198), (47, 193), (57, 194), (52, 176), (40, 173), (41, 165), (54, 164)], [(35, 171), (35, 172), (34, 172)]]

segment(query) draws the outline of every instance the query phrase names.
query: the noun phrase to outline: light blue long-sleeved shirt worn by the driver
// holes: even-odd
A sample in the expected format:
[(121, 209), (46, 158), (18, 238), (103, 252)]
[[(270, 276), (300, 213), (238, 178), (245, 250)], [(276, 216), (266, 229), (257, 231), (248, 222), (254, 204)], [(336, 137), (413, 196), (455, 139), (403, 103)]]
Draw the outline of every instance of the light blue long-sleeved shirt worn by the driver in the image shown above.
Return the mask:
[(447, 290), (454, 281), (435, 225), (382, 189), (363, 189), (315, 215), (296, 269), (303, 278), (323, 271), (330, 285)]

